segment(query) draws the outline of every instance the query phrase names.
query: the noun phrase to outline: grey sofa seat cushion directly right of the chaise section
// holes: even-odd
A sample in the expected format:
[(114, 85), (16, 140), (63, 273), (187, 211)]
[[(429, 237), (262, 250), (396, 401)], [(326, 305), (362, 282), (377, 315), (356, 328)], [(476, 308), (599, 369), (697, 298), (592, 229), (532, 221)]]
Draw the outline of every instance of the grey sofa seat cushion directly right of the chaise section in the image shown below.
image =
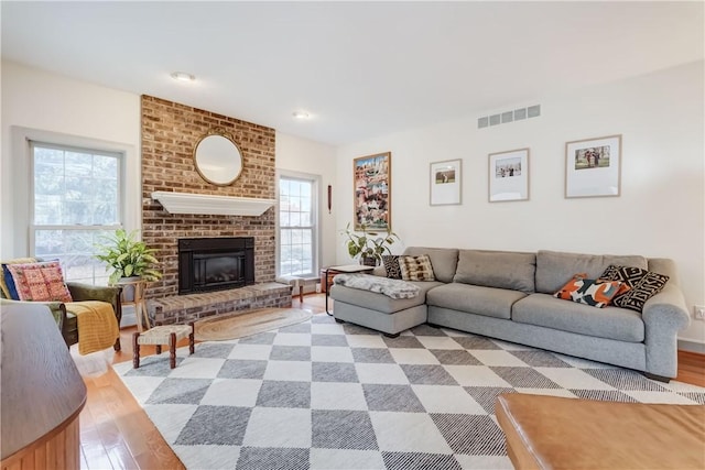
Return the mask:
[(506, 288), (451, 283), (435, 287), (426, 294), (426, 304), (453, 310), (511, 318), (511, 307), (527, 294)]

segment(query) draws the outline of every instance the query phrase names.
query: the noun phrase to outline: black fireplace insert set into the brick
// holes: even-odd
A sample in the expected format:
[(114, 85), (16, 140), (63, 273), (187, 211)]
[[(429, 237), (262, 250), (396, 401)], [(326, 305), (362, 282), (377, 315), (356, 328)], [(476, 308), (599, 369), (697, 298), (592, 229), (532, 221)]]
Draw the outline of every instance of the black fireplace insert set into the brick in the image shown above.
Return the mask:
[(254, 238), (178, 240), (178, 294), (225, 291), (254, 284)]

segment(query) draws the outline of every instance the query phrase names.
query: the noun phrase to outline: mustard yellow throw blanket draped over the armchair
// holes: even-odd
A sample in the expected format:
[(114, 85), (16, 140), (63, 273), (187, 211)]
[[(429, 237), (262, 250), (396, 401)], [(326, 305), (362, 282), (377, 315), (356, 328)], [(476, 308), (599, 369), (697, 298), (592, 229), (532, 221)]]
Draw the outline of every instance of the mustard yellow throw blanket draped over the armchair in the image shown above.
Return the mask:
[(67, 302), (66, 310), (78, 319), (78, 352), (82, 356), (110, 348), (120, 336), (112, 305), (107, 302)]

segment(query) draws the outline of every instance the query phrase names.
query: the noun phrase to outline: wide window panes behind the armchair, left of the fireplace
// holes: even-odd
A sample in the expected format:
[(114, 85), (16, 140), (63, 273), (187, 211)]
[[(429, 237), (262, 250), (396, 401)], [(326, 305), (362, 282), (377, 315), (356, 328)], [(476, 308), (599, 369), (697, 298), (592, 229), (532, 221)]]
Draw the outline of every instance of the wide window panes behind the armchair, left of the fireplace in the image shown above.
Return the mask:
[(93, 258), (101, 238), (121, 227), (122, 154), (30, 141), (31, 252), (58, 259), (67, 281), (105, 285)]

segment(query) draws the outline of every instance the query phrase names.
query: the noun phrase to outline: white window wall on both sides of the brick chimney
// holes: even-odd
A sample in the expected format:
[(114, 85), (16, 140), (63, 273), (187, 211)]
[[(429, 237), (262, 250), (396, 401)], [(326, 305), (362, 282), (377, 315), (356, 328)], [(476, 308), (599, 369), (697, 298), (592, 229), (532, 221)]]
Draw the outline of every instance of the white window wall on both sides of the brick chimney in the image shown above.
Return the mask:
[[(26, 207), (18, 195), (29, 185), (14, 181), (18, 159), (12, 130), (18, 127), (37, 133), (55, 132), (121, 143), (132, 149), (128, 154), (126, 188), (128, 228), (141, 226), (140, 176), (140, 96), (74, 80), (56, 74), (2, 63), (2, 146), (1, 146), (1, 220), (0, 259), (26, 254), (26, 233), (14, 234), (15, 222), (23, 219)], [(335, 179), (335, 147), (293, 135), (276, 134), (276, 167), (321, 175), (322, 207), (328, 184)], [(29, 178), (29, 176), (28, 176)], [(335, 193), (334, 193), (335, 197)], [(324, 233), (335, 231), (335, 212), (323, 211)], [(335, 243), (324, 237), (322, 262), (335, 261)]]

